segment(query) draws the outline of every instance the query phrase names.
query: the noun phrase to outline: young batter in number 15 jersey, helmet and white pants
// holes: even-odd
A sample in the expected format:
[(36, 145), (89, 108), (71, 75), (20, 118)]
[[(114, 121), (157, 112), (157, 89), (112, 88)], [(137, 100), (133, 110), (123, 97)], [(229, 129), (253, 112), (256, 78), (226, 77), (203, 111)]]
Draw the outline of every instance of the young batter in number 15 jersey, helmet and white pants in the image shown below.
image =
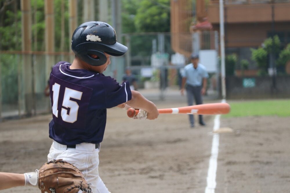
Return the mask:
[[(72, 36), (73, 63), (59, 62), (50, 73), (53, 139), (48, 161), (63, 159), (83, 172), (92, 192), (108, 193), (99, 177), (99, 150), (104, 137), (107, 108), (128, 106), (146, 111), (147, 119), (159, 115), (155, 104), (102, 73), (110, 56), (122, 56), (127, 47), (118, 43), (113, 27), (104, 22), (81, 24)], [(145, 114), (146, 116), (146, 114)], [(144, 118), (144, 117), (143, 117)]]

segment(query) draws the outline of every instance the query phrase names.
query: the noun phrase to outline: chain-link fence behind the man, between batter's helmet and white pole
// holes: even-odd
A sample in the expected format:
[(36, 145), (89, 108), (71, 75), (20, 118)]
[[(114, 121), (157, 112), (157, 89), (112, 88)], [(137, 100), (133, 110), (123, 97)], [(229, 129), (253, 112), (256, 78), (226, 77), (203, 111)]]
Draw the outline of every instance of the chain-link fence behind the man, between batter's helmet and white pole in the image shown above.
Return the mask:
[[(154, 99), (180, 98), (182, 70), (190, 63), (192, 52), (209, 68), (208, 95), (218, 96), (218, 33), (134, 33), (126, 34), (129, 48), (126, 66), (137, 76), (142, 92), (150, 91)], [(208, 57), (209, 55), (210, 57)]]

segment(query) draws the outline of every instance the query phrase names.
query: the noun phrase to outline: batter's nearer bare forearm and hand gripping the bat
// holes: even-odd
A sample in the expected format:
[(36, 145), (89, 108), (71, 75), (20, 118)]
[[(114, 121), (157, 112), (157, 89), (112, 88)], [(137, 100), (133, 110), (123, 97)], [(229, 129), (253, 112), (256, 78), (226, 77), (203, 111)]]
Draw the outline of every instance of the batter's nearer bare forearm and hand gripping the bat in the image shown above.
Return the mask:
[(131, 92), (132, 92), (132, 99), (127, 101), (126, 104), (134, 108), (143, 109), (147, 111), (148, 112), (147, 119), (149, 120), (156, 119), (159, 115), (156, 105), (153, 102), (147, 100), (138, 91), (131, 91)]

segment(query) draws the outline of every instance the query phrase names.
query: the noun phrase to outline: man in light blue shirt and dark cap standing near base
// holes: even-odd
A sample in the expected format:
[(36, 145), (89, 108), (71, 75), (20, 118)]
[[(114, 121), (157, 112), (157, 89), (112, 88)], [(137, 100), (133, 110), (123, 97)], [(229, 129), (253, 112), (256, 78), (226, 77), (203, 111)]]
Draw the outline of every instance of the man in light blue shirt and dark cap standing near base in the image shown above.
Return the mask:
[[(184, 94), (186, 89), (187, 103), (193, 105), (193, 99), (196, 104), (202, 104), (202, 95), (206, 92), (207, 78), (209, 74), (204, 65), (199, 63), (199, 56), (191, 54), (191, 63), (184, 67), (182, 72), (181, 94)], [(186, 83), (186, 84), (185, 84)], [(186, 87), (185, 87), (186, 85)], [(189, 115), (191, 127), (194, 127), (194, 117)], [(199, 115), (199, 124), (204, 126), (202, 115)]]

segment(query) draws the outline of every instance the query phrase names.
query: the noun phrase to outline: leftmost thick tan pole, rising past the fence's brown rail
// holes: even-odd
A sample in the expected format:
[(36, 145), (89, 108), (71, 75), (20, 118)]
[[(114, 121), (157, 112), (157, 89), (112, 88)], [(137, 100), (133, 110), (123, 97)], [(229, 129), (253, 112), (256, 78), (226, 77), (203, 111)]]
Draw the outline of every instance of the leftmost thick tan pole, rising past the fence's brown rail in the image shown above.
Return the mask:
[(22, 55), (22, 71), (23, 71), (23, 84), (24, 86), (24, 106), (25, 113), (32, 115), (32, 61), (31, 55), (31, 6), (30, 1), (21, 0), (21, 38), (22, 38), (22, 51), (26, 52)]

